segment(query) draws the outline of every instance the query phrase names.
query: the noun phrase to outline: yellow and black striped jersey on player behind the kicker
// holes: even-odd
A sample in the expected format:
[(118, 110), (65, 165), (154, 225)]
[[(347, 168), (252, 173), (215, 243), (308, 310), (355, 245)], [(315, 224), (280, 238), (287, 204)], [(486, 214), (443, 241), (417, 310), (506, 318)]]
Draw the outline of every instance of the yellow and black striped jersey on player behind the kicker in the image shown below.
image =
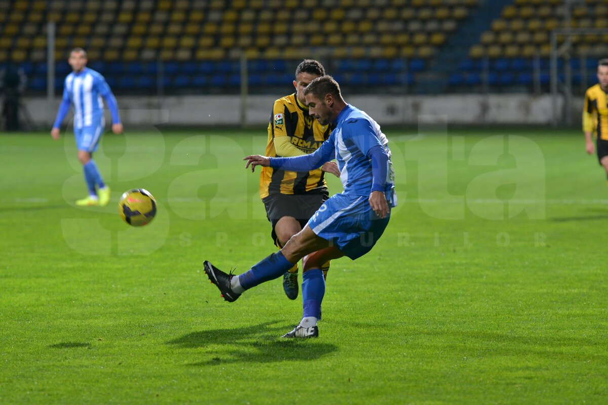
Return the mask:
[[(279, 98), (274, 102), (268, 124), (266, 156), (281, 157), (275, 149), (275, 138), (289, 137), (291, 145), (310, 154), (330, 137), (330, 125), (321, 125), (308, 115), (308, 107), (297, 100), (295, 94)], [(292, 172), (273, 168), (262, 168), (260, 174), (260, 198), (271, 194), (306, 194), (327, 189), (324, 172), (314, 169), (309, 172)]]

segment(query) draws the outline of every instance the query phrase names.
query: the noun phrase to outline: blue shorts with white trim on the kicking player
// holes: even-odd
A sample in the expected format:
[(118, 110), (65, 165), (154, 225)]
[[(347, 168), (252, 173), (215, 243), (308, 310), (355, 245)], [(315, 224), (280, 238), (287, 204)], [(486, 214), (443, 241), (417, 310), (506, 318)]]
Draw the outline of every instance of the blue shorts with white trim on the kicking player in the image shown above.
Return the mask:
[(354, 260), (374, 247), (389, 218), (390, 214), (380, 219), (371, 209), (368, 197), (336, 194), (314, 213), (308, 226)]

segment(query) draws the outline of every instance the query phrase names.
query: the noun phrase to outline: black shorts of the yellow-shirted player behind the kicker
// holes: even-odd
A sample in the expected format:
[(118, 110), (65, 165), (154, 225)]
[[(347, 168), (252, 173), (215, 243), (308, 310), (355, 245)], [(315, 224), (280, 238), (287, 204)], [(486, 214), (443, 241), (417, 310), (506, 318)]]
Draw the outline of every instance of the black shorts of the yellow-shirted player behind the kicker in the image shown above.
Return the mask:
[(317, 212), (317, 209), (329, 198), (327, 191), (314, 194), (272, 194), (264, 197), (266, 217), (272, 224), (272, 240), (279, 246), (274, 227), (283, 217), (294, 217), (304, 228), (306, 222)]

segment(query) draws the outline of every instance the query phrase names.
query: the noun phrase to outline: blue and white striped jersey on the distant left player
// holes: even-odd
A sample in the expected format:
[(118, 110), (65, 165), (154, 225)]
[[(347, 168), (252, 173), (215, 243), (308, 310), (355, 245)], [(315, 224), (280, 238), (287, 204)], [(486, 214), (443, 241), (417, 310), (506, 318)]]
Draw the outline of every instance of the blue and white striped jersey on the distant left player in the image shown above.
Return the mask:
[(112, 123), (120, 123), (116, 99), (100, 73), (85, 67), (81, 72), (67, 75), (63, 86), (63, 100), (54, 128), (59, 128), (69, 106), (74, 106), (74, 128), (104, 126), (103, 98), (108, 101)]

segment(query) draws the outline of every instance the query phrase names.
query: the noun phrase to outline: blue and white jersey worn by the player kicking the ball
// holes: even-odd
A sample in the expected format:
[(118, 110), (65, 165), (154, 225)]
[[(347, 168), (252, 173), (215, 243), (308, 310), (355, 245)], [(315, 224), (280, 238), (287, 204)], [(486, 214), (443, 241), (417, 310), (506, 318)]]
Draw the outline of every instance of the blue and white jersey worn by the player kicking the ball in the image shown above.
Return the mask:
[[(340, 180), (344, 186), (343, 194), (369, 196), (374, 183), (370, 149), (384, 150), (388, 159), (387, 167), (382, 168), (382, 179), (376, 179), (378, 191), (384, 191), (387, 200), (396, 204), (394, 199), (395, 172), (390, 162), (389, 141), (380, 126), (365, 112), (347, 104), (334, 121), (336, 129), (328, 140), (323, 142), (312, 154), (298, 157), (270, 158), (271, 166), (291, 171), (318, 168), (323, 163), (336, 159), (340, 168)], [(373, 152), (373, 151), (372, 151)], [(377, 171), (378, 172), (378, 171)], [(384, 177), (385, 176), (385, 177)]]

